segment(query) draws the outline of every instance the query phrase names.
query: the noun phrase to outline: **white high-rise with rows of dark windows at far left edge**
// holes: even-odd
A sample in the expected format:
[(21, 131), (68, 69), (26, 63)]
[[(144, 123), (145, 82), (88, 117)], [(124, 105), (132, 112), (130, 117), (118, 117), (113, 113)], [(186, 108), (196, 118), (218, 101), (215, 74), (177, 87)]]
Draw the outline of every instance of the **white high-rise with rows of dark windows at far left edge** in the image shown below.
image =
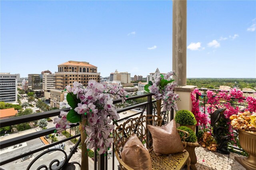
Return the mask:
[(0, 73), (0, 101), (17, 101), (17, 75), (10, 73)]

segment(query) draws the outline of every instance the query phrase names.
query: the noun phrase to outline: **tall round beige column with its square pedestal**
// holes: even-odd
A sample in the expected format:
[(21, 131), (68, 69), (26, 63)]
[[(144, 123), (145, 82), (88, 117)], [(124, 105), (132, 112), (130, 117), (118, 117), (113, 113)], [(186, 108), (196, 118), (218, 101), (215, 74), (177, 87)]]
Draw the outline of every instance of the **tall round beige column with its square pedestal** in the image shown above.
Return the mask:
[[(187, 0), (172, 1), (172, 70), (173, 79), (178, 84), (174, 91), (181, 101), (177, 102), (178, 110), (192, 110), (191, 92), (196, 86), (187, 85)], [(176, 113), (174, 113), (175, 117)]]

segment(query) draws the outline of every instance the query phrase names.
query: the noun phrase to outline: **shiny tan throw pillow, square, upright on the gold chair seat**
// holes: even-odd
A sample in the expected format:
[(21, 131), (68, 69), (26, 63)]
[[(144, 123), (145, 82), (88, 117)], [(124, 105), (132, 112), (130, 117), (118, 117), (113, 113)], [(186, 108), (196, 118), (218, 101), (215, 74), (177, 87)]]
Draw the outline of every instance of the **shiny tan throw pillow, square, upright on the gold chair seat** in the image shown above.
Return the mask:
[(153, 150), (157, 155), (169, 155), (185, 151), (174, 119), (162, 127), (148, 125), (148, 129), (152, 134)]

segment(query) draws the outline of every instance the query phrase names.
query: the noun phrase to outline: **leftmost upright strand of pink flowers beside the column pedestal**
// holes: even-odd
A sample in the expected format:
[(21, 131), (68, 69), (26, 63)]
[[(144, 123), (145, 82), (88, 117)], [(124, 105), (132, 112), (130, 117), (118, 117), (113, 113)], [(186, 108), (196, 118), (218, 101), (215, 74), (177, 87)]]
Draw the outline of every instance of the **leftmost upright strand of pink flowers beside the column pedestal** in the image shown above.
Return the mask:
[(194, 91), (190, 94), (190, 98), (192, 101), (192, 113), (195, 115), (197, 124), (196, 126), (203, 125), (206, 126), (208, 123), (208, 117), (206, 114), (202, 113), (199, 107), (199, 99), (196, 99), (196, 94), (202, 96), (202, 93), (198, 91), (198, 89), (194, 89)]

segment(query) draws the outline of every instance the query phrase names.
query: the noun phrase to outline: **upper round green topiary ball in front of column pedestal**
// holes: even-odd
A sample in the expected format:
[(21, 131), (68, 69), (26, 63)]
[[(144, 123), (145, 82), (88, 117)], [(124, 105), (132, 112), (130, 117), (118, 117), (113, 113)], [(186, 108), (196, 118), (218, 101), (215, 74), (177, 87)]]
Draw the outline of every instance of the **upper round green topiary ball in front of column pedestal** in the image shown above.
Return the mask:
[(197, 123), (194, 114), (188, 110), (178, 111), (174, 119), (180, 125), (196, 125)]

